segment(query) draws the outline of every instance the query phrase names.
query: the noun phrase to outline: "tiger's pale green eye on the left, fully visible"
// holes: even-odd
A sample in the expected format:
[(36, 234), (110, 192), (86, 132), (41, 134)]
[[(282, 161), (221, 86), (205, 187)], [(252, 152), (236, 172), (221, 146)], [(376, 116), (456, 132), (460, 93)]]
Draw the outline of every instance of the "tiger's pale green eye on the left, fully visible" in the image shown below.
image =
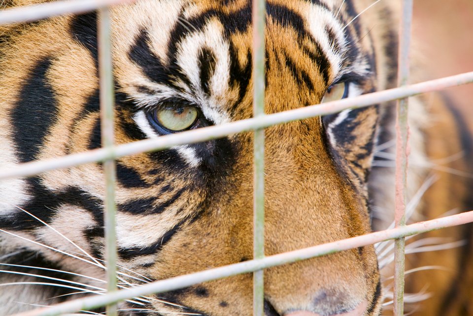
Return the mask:
[(156, 121), (171, 132), (189, 129), (197, 120), (198, 111), (194, 106), (164, 108), (156, 110)]

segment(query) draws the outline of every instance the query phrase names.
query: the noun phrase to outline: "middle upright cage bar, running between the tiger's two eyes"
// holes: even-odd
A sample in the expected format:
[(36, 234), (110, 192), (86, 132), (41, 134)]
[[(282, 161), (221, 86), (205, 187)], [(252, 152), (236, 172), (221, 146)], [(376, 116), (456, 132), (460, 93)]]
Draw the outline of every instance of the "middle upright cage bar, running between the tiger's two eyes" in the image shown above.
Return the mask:
[[(265, 115), (266, 1), (253, 0), (253, 116)], [(265, 256), (265, 130), (254, 132), (253, 257)], [(253, 273), (253, 315), (264, 315), (264, 270)]]

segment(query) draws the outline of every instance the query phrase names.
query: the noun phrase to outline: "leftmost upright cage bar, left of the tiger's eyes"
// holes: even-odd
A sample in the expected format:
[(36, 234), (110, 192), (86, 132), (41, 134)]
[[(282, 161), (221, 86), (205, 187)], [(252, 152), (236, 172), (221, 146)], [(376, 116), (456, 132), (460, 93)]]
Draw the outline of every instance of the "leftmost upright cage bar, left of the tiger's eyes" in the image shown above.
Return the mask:
[[(110, 39), (110, 11), (108, 7), (99, 10), (98, 45), (101, 107), (101, 141), (102, 147), (108, 150), (114, 150), (113, 105), (115, 103), (115, 100)], [(115, 161), (113, 159), (106, 160), (103, 162), (103, 172), (105, 175), (104, 225), (107, 291), (114, 292), (117, 290), (117, 248), (115, 229), (116, 169)], [(106, 310), (107, 316), (117, 316), (117, 306), (115, 304), (108, 305), (106, 307)]]

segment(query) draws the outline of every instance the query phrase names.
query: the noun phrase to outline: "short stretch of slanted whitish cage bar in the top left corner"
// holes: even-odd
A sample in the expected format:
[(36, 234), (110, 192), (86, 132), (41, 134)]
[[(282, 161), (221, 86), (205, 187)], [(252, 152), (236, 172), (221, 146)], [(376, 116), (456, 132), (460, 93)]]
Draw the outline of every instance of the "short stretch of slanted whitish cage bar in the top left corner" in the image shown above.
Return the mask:
[(135, 0), (64, 0), (0, 10), (0, 25), (25, 23), (63, 14), (79, 14)]

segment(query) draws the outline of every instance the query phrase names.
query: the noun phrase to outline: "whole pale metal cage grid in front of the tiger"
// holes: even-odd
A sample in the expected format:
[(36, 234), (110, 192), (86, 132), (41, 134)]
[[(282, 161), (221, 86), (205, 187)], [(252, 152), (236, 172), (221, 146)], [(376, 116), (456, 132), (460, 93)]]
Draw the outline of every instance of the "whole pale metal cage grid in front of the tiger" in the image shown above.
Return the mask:
[[(134, 0), (67, 0), (54, 1), (31, 6), (0, 10), (0, 25), (25, 23), (63, 14), (78, 14), (92, 10), (99, 12), (99, 74), (102, 148), (79, 154), (71, 154), (56, 159), (19, 164), (14, 168), (0, 171), (0, 180), (12, 177), (34, 176), (54, 169), (64, 169), (91, 162), (103, 162), (106, 181), (105, 239), (107, 262), (107, 293), (68, 301), (55, 306), (40, 308), (16, 316), (58, 316), (106, 306), (108, 316), (117, 315), (116, 304), (134, 297), (168, 292), (205, 281), (214, 281), (237, 274), (253, 273), (253, 313), (263, 316), (265, 268), (305, 260), (329, 253), (368, 246), (387, 240), (395, 240), (395, 284), (394, 315), (404, 314), (404, 261), (405, 237), (435, 229), (473, 222), (473, 211), (425, 222), (405, 225), (406, 205), (406, 166), (407, 166), (407, 98), (421, 93), (436, 91), (447, 87), (473, 82), (473, 72), (444, 77), (408, 85), (409, 47), (412, 21), (412, 0), (403, 0), (403, 16), (400, 26), (398, 88), (343, 99), (323, 105), (311, 105), (275, 114), (264, 113), (265, 91), (265, 0), (253, 0), (253, 80), (254, 104), (253, 118), (205, 127), (195, 131), (162, 136), (154, 140), (140, 140), (115, 146), (113, 144), (113, 76), (110, 43), (110, 16), (108, 6)], [(397, 138), (396, 138), (396, 203), (394, 229), (340, 240), (333, 243), (312, 246), (272, 256), (264, 255), (264, 128), (276, 124), (304, 118), (336, 113), (348, 108), (359, 108), (387, 101), (397, 103)], [(116, 232), (115, 232), (115, 159), (136, 153), (168, 149), (175, 145), (202, 142), (225, 137), (230, 134), (254, 131), (254, 259), (223, 267), (209, 269), (188, 275), (154, 281), (140, 287), (117, 290), (116, 284)]]

